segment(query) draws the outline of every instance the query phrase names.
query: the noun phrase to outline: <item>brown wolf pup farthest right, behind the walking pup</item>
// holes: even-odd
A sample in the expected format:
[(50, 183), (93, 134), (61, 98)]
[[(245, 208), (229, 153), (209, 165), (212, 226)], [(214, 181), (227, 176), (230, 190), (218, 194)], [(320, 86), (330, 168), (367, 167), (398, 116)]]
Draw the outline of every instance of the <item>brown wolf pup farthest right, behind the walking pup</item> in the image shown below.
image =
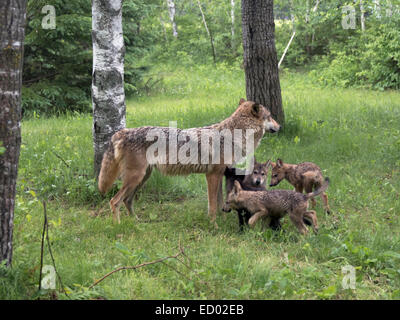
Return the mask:
[[(324, 183), (321, 169), (313, 162), (303, 162), (299, 164), (283, 163), (278, 159), (276, 163), (271, 162), (271, 183), (270, 187), (276, 186), (283, 179), (286, 179), (295, 187), (297, 192), (302, 193), (303, 189), (309, 193), (321, 187)], [(330, 214), (331, 210), (328, 205), (328, 196), (325, 192), (321, 192), (321, 198), (324, 204), (324, 210)], [(315, 199), (311, 199), (312, 207), (315, 207)]]

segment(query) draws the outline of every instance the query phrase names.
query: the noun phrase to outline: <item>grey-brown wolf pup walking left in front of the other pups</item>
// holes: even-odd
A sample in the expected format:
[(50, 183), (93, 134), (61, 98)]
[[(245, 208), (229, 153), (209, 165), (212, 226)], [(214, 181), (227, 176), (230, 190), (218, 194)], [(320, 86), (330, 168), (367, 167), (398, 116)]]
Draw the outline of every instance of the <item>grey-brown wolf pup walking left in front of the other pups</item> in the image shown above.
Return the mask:
[(229, 193), (224, 209), (246, 209), (251, 213), (249, 225), (253, 226), (258, 219), (266, 220), (281, 219), (285, 214), (296, 226), (301, 234), (307, 234), (308, 230), (304, 224), (304, 218), (312, 221), (315, 233), (318, 232), (317, 214), (314, 210), (308, 211), (308, 200), (316, 197), (328, 188), (329, 179), (326, 178), (322, 186), (314, 192), (303, 194), (291, 190), (267, 190), (267, 191), (245, 191), (238, 181)]

